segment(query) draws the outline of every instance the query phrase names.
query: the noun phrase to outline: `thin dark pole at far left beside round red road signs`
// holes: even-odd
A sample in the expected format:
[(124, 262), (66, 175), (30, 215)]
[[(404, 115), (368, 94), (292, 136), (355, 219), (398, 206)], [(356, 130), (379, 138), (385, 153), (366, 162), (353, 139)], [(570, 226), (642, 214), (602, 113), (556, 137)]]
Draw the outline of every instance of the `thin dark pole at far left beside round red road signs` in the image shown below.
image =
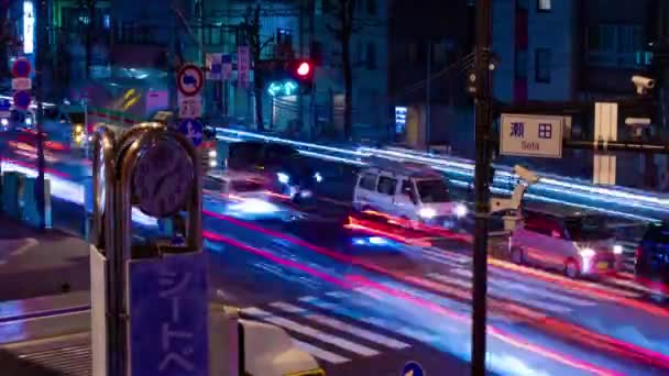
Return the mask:
[(47, 34), (47, 22), (48, 22), (48, 10), (51, 7), (51, 0), (39, 0), (37, 1), (37, 55), (35, 56), (35, 101), (37, 102), (37, 180), (35, 181), (35, 199), (37, 201), (37, 213), (40, 214), (40, 230), (46, 228), (44, 218), (44, 55), (46, 48), (48, 48), (48, 34)]

